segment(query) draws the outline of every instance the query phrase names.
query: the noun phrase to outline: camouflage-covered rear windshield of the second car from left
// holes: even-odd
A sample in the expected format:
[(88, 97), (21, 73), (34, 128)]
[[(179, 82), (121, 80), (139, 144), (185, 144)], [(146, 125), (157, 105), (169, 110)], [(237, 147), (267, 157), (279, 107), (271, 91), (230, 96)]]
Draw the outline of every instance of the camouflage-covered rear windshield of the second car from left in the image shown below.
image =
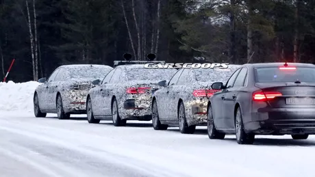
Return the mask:
[(176, 69), (133, 68), (127, 70), (127, 77), (129, 81), (163, 81), (171, 79), (175, 72)]

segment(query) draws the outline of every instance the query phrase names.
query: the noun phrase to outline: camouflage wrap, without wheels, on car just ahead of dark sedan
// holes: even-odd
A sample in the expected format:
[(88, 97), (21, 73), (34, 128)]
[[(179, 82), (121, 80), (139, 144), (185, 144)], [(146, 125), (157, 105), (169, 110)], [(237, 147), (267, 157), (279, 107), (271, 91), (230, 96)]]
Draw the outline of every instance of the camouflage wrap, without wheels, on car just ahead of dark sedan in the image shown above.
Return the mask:
[[(194, 90), (211, 90), (214, 82), (226, 82), (238, 66), (229, 66), (229, 70), (212, 69), (185, 69), (177, 81), (174, 78), (168, 85), (153, 94), (157, 102), (157, 111), (162, 124), (178, 124), (179, 104), (184, 103), (186, 122), (188, 126), (206, 125), (207, 123), (207, 96), (195, 97)], [(186, 75), (186, 77), (185, 77)]]

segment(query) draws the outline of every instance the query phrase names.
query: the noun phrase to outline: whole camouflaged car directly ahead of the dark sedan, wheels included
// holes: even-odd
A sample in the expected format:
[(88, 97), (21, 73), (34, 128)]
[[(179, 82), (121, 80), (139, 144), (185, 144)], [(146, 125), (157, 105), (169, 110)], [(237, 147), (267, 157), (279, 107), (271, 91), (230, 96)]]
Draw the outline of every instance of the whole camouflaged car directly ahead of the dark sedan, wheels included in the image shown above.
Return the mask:
[(166, 130), (177, 125), (181, 133), (194, 133), (196, 126), (207, 124), (207, 102), (218, 90), (211, 85), (227, 81), (239, 66), (229, 69), (180, 69), (168, 85), (153, 94), (153, 128)]

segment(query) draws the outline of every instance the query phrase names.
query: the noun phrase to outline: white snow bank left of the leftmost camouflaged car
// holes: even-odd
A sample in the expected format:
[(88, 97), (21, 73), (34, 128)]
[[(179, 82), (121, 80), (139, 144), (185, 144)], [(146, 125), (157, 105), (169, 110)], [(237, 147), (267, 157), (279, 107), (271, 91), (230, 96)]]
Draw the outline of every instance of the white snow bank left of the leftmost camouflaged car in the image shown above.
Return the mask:
[(40, 83), (0, 83), (0, 111), (33, 111), (33, 96)]

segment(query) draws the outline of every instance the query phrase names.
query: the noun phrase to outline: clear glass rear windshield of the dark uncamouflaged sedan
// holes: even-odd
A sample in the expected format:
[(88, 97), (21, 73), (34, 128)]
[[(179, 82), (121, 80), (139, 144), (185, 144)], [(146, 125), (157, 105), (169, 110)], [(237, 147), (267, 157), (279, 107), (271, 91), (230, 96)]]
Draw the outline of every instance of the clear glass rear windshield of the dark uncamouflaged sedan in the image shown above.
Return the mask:
[(267, 82), (315, 82), (315, 68), (292, 67), (281, 70), (279, 67), (255, 68), (257, 83)]

